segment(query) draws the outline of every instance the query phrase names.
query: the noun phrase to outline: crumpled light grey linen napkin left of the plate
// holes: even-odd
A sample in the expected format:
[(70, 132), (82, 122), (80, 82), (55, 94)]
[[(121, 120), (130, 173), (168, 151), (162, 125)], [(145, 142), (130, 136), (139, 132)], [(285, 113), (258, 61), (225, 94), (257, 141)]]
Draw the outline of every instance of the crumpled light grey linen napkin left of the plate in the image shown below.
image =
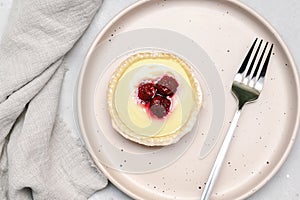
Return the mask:
[(0, 43), (0, 199), (87, 199), (106, 186), (57, 117), (64, 55), (101, 0), (15, 0)]

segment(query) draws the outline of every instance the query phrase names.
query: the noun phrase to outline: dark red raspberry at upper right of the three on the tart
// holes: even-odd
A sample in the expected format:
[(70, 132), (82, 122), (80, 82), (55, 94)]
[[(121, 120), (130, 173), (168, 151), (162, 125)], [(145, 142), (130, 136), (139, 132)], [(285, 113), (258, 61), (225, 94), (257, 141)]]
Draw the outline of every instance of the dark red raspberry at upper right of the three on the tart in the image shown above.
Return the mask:
[(178, 83), (173, 77), (165, 75), (156, 83), (155, 86), (159, 94), (163, 96), (173, 96), (177, 90)]

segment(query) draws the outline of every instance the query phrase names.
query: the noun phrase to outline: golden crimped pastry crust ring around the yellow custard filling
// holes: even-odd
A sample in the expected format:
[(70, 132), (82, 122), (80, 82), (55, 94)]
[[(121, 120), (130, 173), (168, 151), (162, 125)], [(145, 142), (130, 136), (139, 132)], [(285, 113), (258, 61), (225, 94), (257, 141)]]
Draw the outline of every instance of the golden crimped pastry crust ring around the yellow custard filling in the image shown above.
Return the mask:
[[(184, 70), (185, 75), (187, 75), (189, 80), (190, 89), (192, 90), (194, 98), (193, 101), (195, 102), (195, 105), (188, 115), (189, 119), (187, 119), (185, 123), (181, 124), (181, 127), (179, 129), (170, 131), (168, 134), (143, 136), (137, 133), (135, 130), (130, 129), (126, 124), (124, 124), (120, 119), (119, 113), (116, 109), (115, 91), (120, 78), (134, 63), (137, 63), (144, 59), (172, 60), (173, 62), (176, 62), (180, 65), (180, 67)], [(180, 138), (182, 138), (185, 134), (192, 130), (194, 124), (197, 121), (197, 116), (202, 105), (202, 91), (198, 81), (196, 80), (192, 72), (191, 67), (178, 56), (167, 52), (141, 52), (136, 53), (127, 58), (114, 72), (107, 90), (107, 102), (108, 111), (111, 116), (112, 126), (119, 134), (139, 144), (147, 146), (165, 146), (176, 143)]]

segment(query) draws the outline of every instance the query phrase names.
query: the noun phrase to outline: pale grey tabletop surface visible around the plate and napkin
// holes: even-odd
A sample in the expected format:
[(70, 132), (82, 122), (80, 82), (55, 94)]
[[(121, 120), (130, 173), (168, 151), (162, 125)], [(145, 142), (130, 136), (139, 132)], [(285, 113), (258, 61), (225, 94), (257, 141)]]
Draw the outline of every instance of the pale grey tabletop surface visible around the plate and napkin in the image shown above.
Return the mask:
[[(63, 85), (60, 114), (64, 117), (74, 133), (73, 95), (80, 66), (88, 47), (97, 33), (120, 10), (137, 0), (105, 0), (86, 34), (66, 56), (68, 71)], [(299, 0), (241, 0), (265, 17), (279, 32), (289, 47), (300, 71), (300, 1)], [(0, 0), (0, 38), (8, 20), (12, 0)], [(299, 200), (300, 199), (300, 136), (279, 172), (249, 200)], [(94, 194), (90, 200), (126, 200), (131, 199), (112, 184)]]

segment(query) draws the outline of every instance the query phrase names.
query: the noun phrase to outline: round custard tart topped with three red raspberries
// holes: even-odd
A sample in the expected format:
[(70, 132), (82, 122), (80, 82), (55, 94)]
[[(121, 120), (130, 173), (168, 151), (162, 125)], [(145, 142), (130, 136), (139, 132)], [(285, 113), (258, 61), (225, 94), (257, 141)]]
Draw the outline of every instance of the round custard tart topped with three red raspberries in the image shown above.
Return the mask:
[(202, 104), (192, 68), (177, 55), (147, 51), (130, 55), (107, 90), (113, 128), (147, 146), (176, 143), (190, 132)]

